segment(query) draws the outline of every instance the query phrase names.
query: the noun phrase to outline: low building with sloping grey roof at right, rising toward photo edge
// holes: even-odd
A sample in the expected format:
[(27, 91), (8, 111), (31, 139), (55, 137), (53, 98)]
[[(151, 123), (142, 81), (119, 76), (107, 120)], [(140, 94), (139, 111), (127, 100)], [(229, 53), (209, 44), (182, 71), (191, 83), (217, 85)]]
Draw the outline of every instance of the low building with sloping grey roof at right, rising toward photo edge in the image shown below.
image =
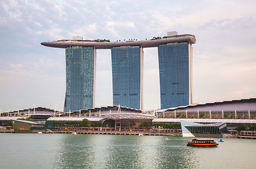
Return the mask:
[[(191, 104), (166, 108), (157, 111), (156, 114), (158, 118), (186, 118), (192, 120), (197, 118), (209, 120), (208, 123), (219, 119), (230, 119), (230, 123), (233, 123), (233, 121), (237, 123), (237, 120), (248, 120), (250, 123), (250, 120), (256, 119), (256, 98)], [(214, 123), (219, 122), (215, 121)]]

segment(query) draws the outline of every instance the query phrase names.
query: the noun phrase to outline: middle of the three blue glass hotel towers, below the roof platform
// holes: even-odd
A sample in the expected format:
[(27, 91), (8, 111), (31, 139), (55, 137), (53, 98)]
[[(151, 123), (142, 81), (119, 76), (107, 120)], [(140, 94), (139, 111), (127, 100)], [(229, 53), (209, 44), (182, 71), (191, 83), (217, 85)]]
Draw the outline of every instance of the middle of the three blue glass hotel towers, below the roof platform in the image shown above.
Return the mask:
[(143, 50), (140, 46), (111, 49), (113, 105), (142, 109)]

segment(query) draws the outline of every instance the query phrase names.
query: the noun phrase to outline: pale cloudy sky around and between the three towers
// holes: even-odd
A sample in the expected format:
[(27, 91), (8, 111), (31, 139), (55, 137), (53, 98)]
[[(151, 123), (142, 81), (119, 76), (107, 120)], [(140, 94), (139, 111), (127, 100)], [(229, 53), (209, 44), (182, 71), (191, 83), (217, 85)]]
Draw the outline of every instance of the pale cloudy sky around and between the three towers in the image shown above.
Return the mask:
[[(190, 34), (194, 104), (256, 97), (256, 1), (0, 1), (0, 112), (63, 111), (58, 39), (151, 39)], [(95, 106), (112, 106), (110, 49), (97, 50)], [(157, 48), (144, 49), (144, 110), (160, 108)]]

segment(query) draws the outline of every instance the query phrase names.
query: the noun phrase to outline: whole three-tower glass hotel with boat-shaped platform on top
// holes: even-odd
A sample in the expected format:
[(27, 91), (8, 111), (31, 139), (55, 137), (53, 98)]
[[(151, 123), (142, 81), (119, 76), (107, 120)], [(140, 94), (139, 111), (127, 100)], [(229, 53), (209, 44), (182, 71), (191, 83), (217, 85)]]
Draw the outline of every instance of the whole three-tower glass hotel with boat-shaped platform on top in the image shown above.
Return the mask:
[[(192, 104), (194, 35), (168, 32), (150, 40), (83, 40), (42, 42), (66, 49), (64, 112), (95, 108), (96, 50), (111, 49), (113, 105), (143, 110), (144, 48), (158, 47), (161, 109)], [(146, 58), (145, 58), (146, 59)]]

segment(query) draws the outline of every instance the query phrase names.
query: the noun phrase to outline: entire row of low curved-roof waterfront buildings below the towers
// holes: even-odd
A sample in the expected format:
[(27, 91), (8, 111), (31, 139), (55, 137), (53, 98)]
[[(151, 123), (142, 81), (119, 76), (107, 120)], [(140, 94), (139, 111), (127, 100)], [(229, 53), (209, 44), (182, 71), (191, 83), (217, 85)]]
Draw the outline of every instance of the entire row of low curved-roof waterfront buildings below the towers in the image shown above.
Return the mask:
[[(136, 130), (136, 128), (141, 128), (141, 123), (144, 123), (145, 121), (148, 121), (149, 126), (151, 126), (152, 123), (181, 123), (183, 120), (187, 122), (185, 124), (187, 130), (192, 133), (196, 133), (199, 136), (200, 134), (205, 134), (204, 132), (219, 134), (219, 130), (217, 129), (222, 129), (222, 127), (225, 127), (221, 124), (209, 125), (211, 123), (226, 123), (229, 129), (241, 125), (255, 125), (255, 103), (256, 99), (243, 99), (209, 104), (180, 106), (178, 108), (158, 111), (156, 116), (149, 115), (139, 109), (127, 108), (123, 106), (105, 106), (72, 112), (62, 112), (43, 107), (25, 108), (0, 113), (0, 126), (10, 124), (11, 120), (15, 121), (21, 118), (29, 120), (27, 118), (31, 118), (35, 121), (35, 123), (30, 123), (28, 121), (28, 123), (26, 123), (26, 121), (19, 121), (18, 123), (15, 122), (16, 129), (17, 127), (22, 127), (24, 125), (23, 132), (31, 132), (27, 130), (45, 130), (37, 127), (47, 127), (47, 129), (50, 129), (54, 121), (82, 121), (83, 119), (87, 119), (93, 123), (101, 122), (103, 127), (112, 127), (111, 130), (114, 131), (131, 130), (131, 128)], [(209, 108), (211, 109), (209, 110)], [(208, 125), (197, 127), (197, 125), (194, 125), (193, 123), (202, 123)], [(168, 129), (163, 130), (165, 131), (159, 132), (172, 132)]]

